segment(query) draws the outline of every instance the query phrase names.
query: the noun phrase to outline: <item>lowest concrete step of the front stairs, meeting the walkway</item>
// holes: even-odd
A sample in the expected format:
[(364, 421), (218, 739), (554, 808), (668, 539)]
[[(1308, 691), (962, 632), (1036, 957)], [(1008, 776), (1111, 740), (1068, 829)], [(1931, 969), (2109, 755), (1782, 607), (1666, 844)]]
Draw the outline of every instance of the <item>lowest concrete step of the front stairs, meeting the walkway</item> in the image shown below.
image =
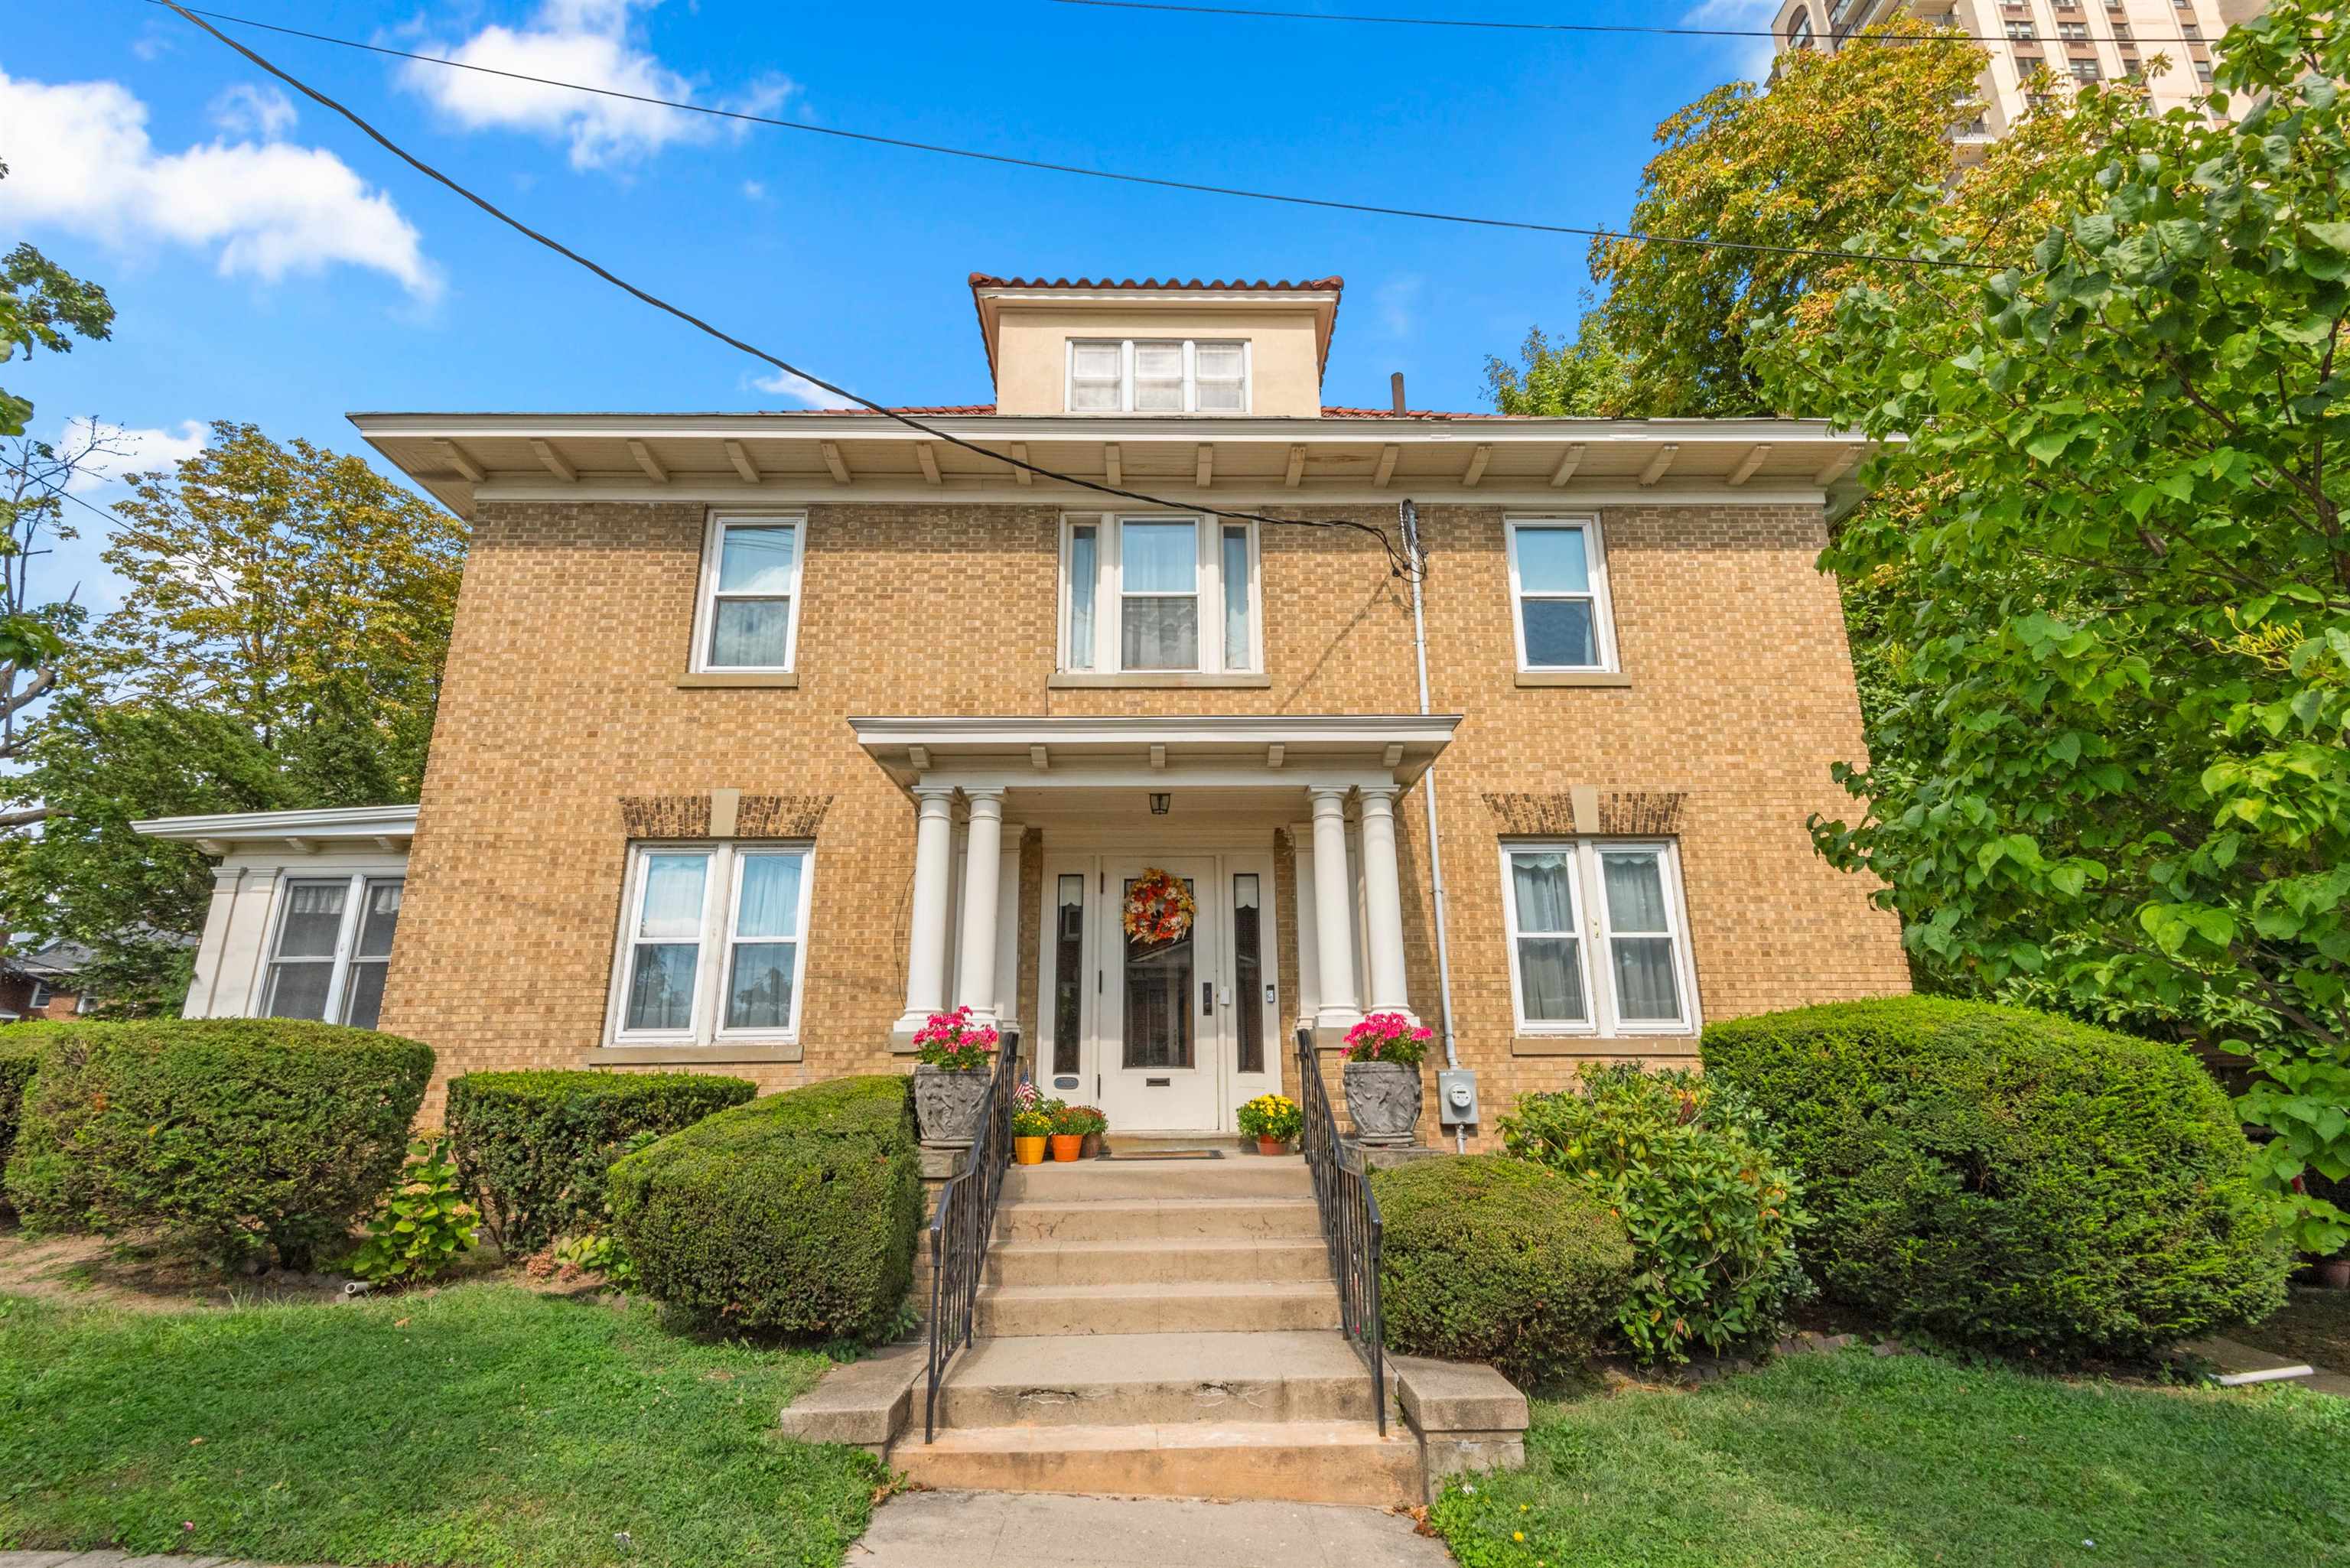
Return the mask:
[[(1419, 1443), (1368, 1420), (959, 1427), (891, 1450), (916, 1486), (1130, 1497), (1424, 1502)], [(1246, 1542), (1234, 1561), (1248, 1561)]]

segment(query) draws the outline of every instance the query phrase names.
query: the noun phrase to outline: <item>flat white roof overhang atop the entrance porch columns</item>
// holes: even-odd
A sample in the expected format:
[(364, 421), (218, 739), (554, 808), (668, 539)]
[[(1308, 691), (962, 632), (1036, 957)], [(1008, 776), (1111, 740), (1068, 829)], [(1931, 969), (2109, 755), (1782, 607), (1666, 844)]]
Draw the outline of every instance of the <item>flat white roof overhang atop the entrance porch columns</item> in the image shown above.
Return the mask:
[(1318, 778), (1415, 783), (1452, 741), (1459, 715), (848, 719), (865, 755), (900, 785), (1104, 780), (1304, 790)]

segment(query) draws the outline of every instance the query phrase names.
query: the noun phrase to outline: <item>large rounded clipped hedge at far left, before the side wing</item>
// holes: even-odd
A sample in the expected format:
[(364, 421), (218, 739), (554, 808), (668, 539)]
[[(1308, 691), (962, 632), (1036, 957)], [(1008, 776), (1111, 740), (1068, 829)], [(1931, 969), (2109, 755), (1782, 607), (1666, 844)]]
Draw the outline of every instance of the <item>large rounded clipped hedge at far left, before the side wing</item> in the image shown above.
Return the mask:
[(287, 1018), (70, 1023), (24, 1098), (28, 1227), (162, 1227), (306, 1269), (400, 1175), (432, 1077), (414, 1039)]

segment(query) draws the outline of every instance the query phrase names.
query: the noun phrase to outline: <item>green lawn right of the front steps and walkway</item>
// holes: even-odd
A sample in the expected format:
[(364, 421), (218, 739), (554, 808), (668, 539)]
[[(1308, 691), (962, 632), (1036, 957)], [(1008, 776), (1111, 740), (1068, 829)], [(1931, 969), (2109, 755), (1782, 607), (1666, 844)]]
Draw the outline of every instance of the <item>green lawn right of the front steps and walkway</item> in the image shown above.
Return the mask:
[(2350, 1561), (2345, 1450), (2305, 1389), (1847, 1352), (1537, 1406), (1528, 1467), (1434, 1523), (1466, 1568), (2280, 1568)]

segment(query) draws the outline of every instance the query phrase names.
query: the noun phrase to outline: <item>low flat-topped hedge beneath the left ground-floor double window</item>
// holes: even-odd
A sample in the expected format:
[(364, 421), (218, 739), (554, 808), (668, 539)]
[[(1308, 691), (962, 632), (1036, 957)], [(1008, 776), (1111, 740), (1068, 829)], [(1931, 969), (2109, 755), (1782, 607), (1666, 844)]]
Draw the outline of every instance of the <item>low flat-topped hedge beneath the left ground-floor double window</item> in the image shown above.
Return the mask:
[(684, 1131), (759, 1093), (698, 1072), (468, 1072), (449, 1079), (449, 1147), (508, 1258), (604, 1222), (604, 1171), (639, 1133)]

